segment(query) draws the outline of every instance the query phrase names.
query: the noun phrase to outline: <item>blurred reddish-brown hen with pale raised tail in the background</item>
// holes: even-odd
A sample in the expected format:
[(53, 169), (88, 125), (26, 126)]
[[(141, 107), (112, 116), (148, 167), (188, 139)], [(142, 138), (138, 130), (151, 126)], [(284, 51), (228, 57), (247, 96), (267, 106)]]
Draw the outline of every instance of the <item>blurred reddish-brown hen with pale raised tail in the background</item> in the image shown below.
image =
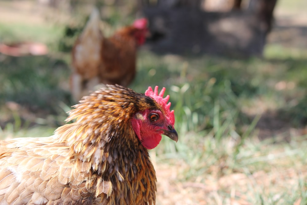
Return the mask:
[(142, 18), (106, 38), (99, 22), (99, 11), (94, 9), (72, 49), (70, 84), (77, 101), (98, 84), (128, 86), (136, 73), (137, 47), (145, 42), (148, 31)]

